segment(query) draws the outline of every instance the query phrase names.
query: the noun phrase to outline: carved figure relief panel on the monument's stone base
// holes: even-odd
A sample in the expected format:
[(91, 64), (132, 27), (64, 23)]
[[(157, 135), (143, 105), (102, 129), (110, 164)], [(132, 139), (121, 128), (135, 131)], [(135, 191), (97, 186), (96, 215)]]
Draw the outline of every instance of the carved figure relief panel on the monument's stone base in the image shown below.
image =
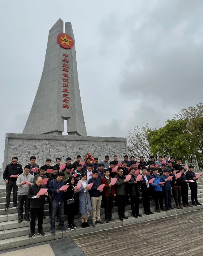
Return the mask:
[(117, 155), (122, 160), (126, 152), (125, 141), (88, 141), (88, 140), (53, 140), (53, 139), (8, 139), (6, 164), (11, 163), (13, 156), (18, 156), (18, 162), (24, 167), (30, 161), (30, 156), (36, 156), (36, 164), (45, 164), (47, 158), (51, 165), (55, 164), (56, 157), (61, 158), (61, 163), (66, 163), (66, 157), (72, 158), (72, 163), (77, 155), (81, 155), (83, 162), (87, 152), (98, 157), (99, 162), (108, 155), (109, 160)]

